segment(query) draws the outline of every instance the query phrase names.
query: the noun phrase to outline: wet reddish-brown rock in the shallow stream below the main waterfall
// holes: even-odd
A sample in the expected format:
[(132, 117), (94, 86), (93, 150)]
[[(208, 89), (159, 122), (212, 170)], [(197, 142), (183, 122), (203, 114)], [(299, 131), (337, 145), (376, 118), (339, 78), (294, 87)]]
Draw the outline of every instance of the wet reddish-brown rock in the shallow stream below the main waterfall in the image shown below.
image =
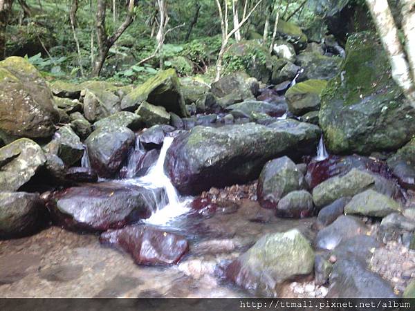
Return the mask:
[(124, 249), (138, 265), (176, 264), (189, 249), (183, 236), (145, 225), (104, 232), (100, 242)]

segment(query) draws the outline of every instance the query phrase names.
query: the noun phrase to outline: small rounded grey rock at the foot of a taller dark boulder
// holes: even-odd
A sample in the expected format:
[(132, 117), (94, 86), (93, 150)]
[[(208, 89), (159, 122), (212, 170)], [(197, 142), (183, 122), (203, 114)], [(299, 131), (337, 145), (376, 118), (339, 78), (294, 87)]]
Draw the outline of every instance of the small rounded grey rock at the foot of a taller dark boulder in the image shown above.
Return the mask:
[(279, 200), (275, 214), (283, 218), (304, 218), (313, 214), (313, 207), (308, 191), (292, 191)]

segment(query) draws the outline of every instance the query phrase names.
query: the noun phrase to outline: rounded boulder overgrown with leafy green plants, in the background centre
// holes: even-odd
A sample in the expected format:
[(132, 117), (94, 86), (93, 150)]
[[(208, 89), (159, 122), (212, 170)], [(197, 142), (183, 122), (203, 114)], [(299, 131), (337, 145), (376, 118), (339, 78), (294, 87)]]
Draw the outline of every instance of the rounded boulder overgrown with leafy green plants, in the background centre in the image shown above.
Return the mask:
[(243, 70), (251, 77), (268, 83), (273, 72), (273, 59), (264, 46), (256, 40), (232, 44), (223, 55), (225, 73)]

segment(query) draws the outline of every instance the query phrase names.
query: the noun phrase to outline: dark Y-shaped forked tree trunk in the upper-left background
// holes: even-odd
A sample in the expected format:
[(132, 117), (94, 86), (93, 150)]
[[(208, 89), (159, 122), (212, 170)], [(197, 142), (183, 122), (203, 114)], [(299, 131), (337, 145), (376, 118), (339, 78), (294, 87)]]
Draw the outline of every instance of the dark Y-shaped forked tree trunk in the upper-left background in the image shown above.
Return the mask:
[(105, 13), (107, 10), (106, 1), (98, 0), (97, 1), (97, 14), (96, 14), (96, 30), (97, 30), (97, 39), (98, 39), (98, 59), (96, 60), (92, 75), (98, 77), (101, 73), (102, 66), (107, 59), (109, 49), (116, 43), (118, 38), (121, 37), (122, 33), (131, 25), (133, 22), (133, 8), (134, 0), (129, 0), (129, 6), (127, 10), (127, 17), (124, 22), (118, 27), (116, 32), (108, 37), (107, 31), (105, 29)]

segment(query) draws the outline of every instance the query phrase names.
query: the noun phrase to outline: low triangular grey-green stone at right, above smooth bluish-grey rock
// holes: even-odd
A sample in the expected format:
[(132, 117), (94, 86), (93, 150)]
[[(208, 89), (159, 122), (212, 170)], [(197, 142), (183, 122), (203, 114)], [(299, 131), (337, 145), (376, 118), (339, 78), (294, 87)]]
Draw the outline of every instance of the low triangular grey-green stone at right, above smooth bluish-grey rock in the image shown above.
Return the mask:
[(371, 189), (361, 194), (356, 194), (344, 207), (345, 214), (358, 214), (380, 218), (401, 210), (402, 207), (394, 199)]

